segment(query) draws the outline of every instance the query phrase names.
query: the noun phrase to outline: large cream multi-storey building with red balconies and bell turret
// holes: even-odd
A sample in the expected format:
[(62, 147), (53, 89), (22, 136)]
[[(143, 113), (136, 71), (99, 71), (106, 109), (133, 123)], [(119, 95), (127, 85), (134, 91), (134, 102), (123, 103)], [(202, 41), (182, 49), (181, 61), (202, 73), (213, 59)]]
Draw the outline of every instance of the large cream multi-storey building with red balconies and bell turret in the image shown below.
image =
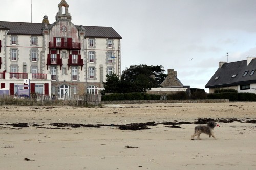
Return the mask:
[[(69, 5), (58, 4), (56, 22), (0, 21), (0, 88), (41, 95), (96, 94), (106, 75), (121, 74), (121, 39), (112, 27), (71, 22)], [(24, 80), (29, 80), (24, 85)]]

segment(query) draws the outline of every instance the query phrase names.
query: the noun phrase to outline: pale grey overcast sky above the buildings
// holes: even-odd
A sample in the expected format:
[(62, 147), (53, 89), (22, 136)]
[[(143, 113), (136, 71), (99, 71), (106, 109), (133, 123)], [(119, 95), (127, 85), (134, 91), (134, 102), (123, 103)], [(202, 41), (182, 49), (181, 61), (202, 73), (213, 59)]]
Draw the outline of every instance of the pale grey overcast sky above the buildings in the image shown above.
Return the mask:
[[(121, 70), (174, 69), (204, 88), (220, 61), (256, 56), (255, 0), (66, 0), (75, 25), (110, 26), (121, 40)], [(32, 22), (55, 22), (60, 0), (32, 0)], [(31, 0), (0, 0), (1, 21), (31, 22)], [(228, 57), (226, 53), (228, 52)], [(206, 89), (208, 92), (208, 89)]]

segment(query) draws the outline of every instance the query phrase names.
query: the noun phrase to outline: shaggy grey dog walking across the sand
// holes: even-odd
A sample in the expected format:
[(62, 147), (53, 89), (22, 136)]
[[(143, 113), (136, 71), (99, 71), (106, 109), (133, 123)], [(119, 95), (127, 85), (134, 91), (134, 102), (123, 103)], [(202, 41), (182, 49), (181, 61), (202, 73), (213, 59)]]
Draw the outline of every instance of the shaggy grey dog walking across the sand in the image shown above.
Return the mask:
[(195, 133), (191, 136), (191, 140), (194, 140), (194, 137), (197, 136), (198, 140), (200, 139), (200, 134), (205, 133), (207, 135), (212, 136), (216, 139), (214, 136), (214, 127), (216, 127), (216, 123), (214, 121), (207, 122), (207, 125), (199, 125), (195, 127)]

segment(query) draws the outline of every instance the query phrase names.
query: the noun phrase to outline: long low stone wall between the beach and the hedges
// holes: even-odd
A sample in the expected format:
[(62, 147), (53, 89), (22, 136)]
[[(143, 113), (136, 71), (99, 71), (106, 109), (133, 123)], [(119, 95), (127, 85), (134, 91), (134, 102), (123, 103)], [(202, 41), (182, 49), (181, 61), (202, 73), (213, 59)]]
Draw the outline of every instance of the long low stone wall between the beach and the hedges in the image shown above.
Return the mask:
[(142, 104), (142, 103), (224, 103), (228, 99), (199, 99), (199, 100), (134, 100), (134, 101), (101, 101), (101, 104)]

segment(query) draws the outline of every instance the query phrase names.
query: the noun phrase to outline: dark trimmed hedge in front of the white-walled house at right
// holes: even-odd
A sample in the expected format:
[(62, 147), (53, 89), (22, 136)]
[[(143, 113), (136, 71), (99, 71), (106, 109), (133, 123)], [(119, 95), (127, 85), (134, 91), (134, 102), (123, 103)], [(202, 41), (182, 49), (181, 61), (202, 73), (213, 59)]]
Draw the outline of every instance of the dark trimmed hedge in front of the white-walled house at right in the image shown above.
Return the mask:
[(229, 101), (256, 101), (256, 94), (223, 92), (216, 94), (208, 94), (207, 99), (228, 99)]

